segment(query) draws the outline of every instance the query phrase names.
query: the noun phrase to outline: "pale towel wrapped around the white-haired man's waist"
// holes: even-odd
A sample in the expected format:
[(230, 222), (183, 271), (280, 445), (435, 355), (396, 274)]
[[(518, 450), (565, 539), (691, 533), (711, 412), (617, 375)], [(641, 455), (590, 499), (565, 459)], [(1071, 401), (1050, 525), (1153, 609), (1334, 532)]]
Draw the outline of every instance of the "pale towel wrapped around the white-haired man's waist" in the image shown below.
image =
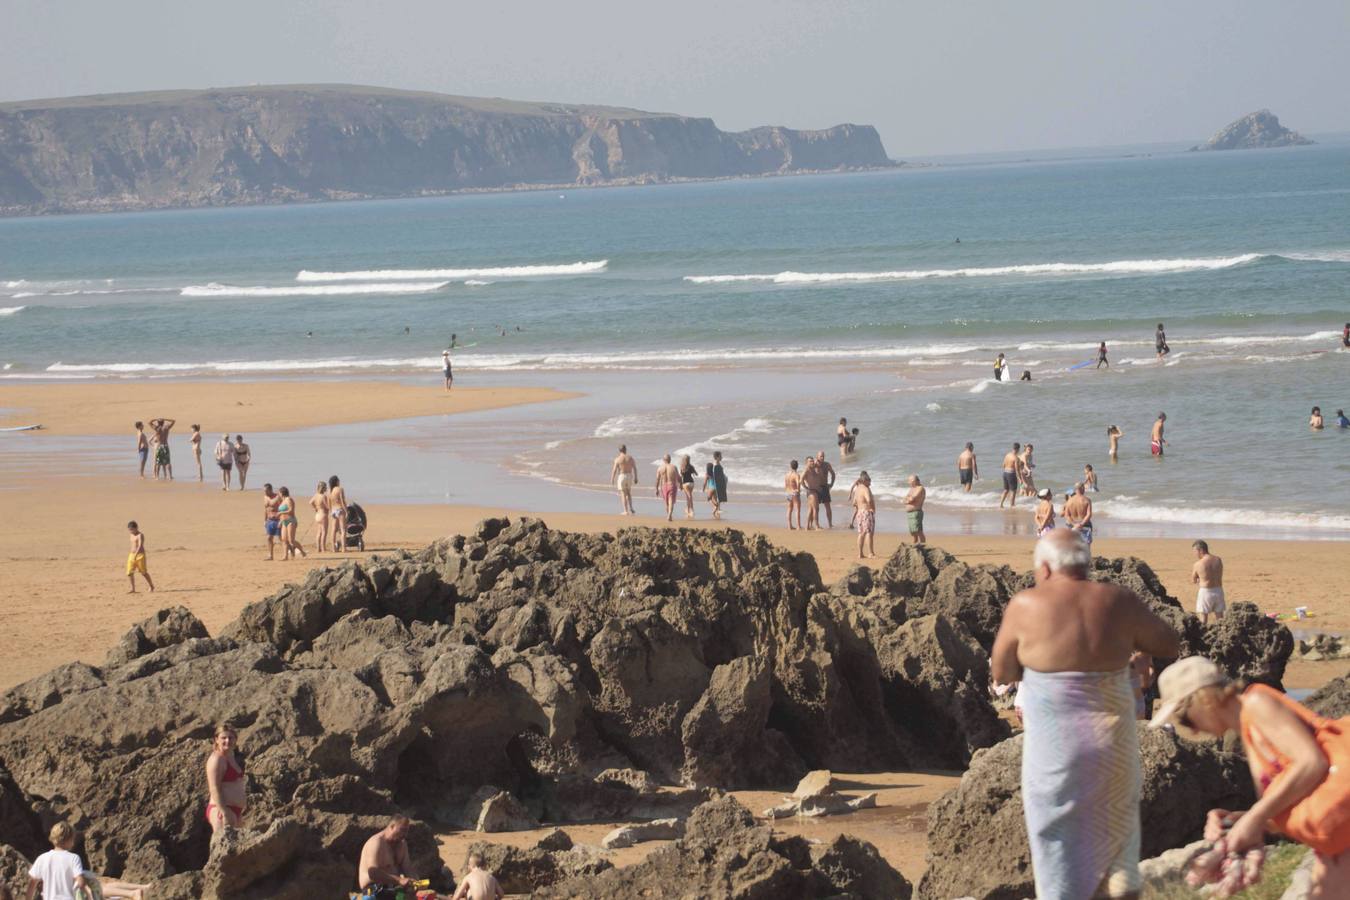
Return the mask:
[(1038, 900), (1139, 889), (1139, 738), (1127, 669), (1034, 672), (1018, 692)]

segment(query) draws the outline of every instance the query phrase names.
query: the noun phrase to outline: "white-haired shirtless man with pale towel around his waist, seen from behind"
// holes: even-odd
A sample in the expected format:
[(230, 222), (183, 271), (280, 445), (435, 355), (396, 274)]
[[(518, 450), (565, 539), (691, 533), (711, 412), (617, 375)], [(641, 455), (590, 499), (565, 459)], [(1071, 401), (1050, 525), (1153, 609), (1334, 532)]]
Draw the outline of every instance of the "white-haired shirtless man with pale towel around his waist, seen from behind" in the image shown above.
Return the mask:
[(1180, 640), (1133, 592), (1088, 580), (1092, 553), (1056, 529), (1035, 544), (1035, 586), (1003, 611), (991, 669), (1021, 681), (1022, 804), (1040, 900), (1138, 896), (1139, 742), (1129, 663), (1174, 658)]

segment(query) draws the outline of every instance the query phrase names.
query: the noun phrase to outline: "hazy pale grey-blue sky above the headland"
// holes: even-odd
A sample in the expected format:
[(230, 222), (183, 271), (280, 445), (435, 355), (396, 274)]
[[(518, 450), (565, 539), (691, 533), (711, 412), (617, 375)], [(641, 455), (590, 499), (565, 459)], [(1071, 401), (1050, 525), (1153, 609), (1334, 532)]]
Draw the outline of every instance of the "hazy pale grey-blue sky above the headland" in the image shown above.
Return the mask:
[(875, 124), (892, 157), (1350, 130), (1347, 0), (0, 0), (0, 100), (358, 82)]

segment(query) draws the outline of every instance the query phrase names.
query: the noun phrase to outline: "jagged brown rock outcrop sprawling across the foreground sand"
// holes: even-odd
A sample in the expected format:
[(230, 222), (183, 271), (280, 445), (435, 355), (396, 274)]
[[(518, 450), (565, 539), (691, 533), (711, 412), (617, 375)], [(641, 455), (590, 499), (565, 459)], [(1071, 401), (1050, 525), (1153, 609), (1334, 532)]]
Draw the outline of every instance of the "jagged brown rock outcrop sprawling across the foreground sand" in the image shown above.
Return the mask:
[[(1095, 576), (1139, 591), (1191, 652), (1278, 684), (1292, 648), (1278, 623), (1202, 629), (1138, 560), (1099, 561)], [(417, 819), (414, 866), (440, 887), (432, 824), (675, 819), (660, 826), (675, 843), (614, 872), (566, 835), (494, 853), (549, 897), (671, 880), (709, 897), (907, 896), (871, 845), (778, 839), (721, 791), (813, 769), (971, 768), (930, 814), (932, 877), (942, 891), (965, 869), (1003, 878), (1015, 835), (975, 866), (950, 847), (984, 842), (968, 810), (1019, 824), (1019, 743), (990, 704), (987, 646), (1026, 583), (903, 546), (825, 586), (810, 556), (761, 536), (497, 518), (310, 572), (216, 636), (165, 610), (103, 665), (0, 695), (0, 877), (62, 818), (94, 869), (155, 882), (161, 900), (342, 896), (360, 842), (401, 811)], [(220, 721), (240, 731), (250, 811), (246, 830), (212, 841), (202, 762)], [(1218, 752), (1145, 746), (1149, 850), (1200, 827), (1168, 785), (1189, 781), (1184, 799), (1203, 803), (1245, 784)]]

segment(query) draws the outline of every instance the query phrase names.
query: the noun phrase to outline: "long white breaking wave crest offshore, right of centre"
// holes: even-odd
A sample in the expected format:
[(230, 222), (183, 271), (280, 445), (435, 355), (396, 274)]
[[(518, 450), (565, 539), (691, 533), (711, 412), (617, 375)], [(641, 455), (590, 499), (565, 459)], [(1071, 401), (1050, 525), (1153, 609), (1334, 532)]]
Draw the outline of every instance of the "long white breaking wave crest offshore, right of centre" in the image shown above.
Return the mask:
[(1262, 254), (1210, 256), (1197, 259), (1118, 259), (1108, 263), (1030, 263), (969, 269), (907, 269), (896, 271), (801, 273), (765, 275), (686, 275), (695, 285), (768, 282), (774, 285), (825, 285), (873, 281), (926, 281), (930, 278), (986, 278), (999, 275), (1156, 275), (1181, 271), (1231, 269), (1261, 259)]

